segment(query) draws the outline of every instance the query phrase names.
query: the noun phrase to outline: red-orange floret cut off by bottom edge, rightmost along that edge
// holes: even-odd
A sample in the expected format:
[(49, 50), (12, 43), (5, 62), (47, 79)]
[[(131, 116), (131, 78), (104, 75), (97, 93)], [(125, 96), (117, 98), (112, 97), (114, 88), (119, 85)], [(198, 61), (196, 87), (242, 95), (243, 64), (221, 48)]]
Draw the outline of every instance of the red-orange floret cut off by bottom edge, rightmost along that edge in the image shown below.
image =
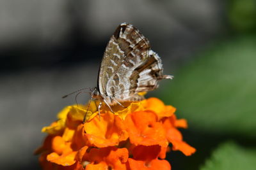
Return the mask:
[(150, 162), (145, 162), (145, 161), (142, 161), (142, 160), (134, 160), (134, 159), (129, 158), (128, 162), (129, 162), (129, 169), (131, 169), (131, 170), (133, 170), (133, 169), (170, 170), (171, 169), (171, 166), (170, 166), (170, 164), (167, 160), (154, 159)]

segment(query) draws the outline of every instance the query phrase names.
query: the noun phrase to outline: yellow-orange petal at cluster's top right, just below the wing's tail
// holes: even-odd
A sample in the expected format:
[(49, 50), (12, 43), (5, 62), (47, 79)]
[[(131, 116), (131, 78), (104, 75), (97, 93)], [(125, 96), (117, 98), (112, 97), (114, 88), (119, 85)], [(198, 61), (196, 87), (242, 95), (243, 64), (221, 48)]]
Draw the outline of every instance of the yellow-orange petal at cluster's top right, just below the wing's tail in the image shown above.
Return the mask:
[(176, 111), (176, 108), (173, 106), (165, 106), (163, 101), (156, 97), (150, 97), (143, 101), (143, 106), (145, 107), (145, 110), (154, 111), (154, 113), (157, 114), (158, 120), (161, 120), (163, 117), (170, 117)]

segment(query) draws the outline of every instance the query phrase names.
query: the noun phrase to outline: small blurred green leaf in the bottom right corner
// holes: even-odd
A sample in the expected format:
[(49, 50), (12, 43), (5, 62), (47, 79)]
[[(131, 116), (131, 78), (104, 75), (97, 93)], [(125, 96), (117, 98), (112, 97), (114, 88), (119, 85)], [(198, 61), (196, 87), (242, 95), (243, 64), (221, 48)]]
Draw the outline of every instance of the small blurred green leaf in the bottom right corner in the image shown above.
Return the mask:
[(200, 170), (250, 170), (256, 167), (256, 150), (241, 148), (232, 142), (220, 145)]

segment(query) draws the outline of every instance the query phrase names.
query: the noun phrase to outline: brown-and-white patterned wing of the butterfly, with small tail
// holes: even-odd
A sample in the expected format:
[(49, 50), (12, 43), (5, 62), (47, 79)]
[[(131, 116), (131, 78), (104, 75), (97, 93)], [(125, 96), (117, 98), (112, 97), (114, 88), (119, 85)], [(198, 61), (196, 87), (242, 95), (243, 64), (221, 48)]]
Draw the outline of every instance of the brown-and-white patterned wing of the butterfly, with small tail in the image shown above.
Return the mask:
[(159, 56), (150, 50), (148, 39), (131, 24), (121, 24), (111, 37), (100, 65), (100, 95), (111, 104), (117, 101), (143, 99), (138, 92), (158, 87), (163, 75)]

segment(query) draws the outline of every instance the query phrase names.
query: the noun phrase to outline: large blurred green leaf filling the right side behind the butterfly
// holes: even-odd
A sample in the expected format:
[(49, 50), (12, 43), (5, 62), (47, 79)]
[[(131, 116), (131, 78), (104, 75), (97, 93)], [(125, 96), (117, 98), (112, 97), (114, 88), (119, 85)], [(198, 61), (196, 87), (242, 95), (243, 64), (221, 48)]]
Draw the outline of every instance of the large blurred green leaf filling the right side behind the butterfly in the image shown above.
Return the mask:
[(256, 136), (256, 37), (216, 43), (161, 88), (177, 116), (201, 131)]

